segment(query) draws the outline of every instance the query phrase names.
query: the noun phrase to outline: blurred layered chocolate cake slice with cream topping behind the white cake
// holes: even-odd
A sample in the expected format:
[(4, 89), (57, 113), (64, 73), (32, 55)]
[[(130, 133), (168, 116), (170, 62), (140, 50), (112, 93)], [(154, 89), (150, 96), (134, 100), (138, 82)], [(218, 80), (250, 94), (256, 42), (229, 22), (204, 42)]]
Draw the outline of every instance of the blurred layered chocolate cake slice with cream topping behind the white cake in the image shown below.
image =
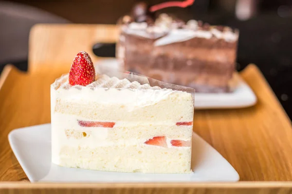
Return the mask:
[(116, 56), (125, 70), (189, 86), (202, 93), (229, 92), (238, 31), (161, 14), (155, 20), (122, 18)]

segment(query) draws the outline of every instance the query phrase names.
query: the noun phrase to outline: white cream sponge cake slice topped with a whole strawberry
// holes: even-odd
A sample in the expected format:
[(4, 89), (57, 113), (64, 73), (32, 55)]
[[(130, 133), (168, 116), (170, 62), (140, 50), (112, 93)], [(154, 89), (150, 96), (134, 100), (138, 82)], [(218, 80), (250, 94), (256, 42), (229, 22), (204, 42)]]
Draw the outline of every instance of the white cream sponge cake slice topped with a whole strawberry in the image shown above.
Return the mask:
[[(179, 86), (174, 87), (179, 88)], [(189, 92), (96, 74), (80, 52), (51, 85), (52, 162), (92, 170), (190, 173)]]

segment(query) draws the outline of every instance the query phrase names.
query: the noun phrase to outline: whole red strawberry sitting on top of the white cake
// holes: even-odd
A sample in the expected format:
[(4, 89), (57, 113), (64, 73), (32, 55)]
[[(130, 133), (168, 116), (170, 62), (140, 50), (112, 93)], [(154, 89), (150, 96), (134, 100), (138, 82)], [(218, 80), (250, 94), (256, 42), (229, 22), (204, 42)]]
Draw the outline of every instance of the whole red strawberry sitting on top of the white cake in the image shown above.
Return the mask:
[(88, 85), (95, 81), (95, 70), (87, 52), (81, 51), (74, 58), (69, 73), (70, 85)]

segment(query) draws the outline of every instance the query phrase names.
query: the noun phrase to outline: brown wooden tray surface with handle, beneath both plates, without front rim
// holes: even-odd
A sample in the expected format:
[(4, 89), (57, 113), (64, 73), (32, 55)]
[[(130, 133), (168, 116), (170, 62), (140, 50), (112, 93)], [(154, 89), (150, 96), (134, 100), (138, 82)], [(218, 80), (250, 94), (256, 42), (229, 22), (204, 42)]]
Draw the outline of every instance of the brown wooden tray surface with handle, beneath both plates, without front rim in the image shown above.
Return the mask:
[[(0, 77), (0, 185), (28, 181), (8, 144), (8, 133), (49, 123), (50, 84), (69, 72), (77, 52), (85, 50), (96, 61), (93, 44), (114, 42), (117, 35), (116, 27), (109, 25), (47, 24), (32, 29), (28, 73), (7, 65)], [(256, 65), (240, 75), (256, 93), (257, 104), (198, 110), (194, 131), (234, 166), (241, 181), (291, 181), (291, 121)]]

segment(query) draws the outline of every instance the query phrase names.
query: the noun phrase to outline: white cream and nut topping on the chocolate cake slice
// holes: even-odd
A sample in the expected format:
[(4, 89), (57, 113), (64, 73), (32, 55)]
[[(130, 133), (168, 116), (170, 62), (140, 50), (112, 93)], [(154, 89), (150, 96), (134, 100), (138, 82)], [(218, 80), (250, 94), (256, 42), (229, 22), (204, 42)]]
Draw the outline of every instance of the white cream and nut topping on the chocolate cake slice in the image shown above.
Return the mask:
[(202, 30), (199, 28), (198, 21), (189, 20), (179, 28), (178, 23), (173, 22), (173, 19), (166, 14), (161, 14), (155, 21), (153, 26), (148, 26), (146, 22), (132, 22), (128, 26), (123, 26), (122, 30), (128, 34), (141, 36), (144, 38), (157, 39), (155, 46), (167, 45), (175, 42), (183, 42), (195, 37), (210, 39), (216, 37), (224, 39), (227, 42), (234, 42), (238, 39), (238, 32), (232, 32), (228, 27), (225, 27), (221, 32), (216, 28), (210, 30)]

